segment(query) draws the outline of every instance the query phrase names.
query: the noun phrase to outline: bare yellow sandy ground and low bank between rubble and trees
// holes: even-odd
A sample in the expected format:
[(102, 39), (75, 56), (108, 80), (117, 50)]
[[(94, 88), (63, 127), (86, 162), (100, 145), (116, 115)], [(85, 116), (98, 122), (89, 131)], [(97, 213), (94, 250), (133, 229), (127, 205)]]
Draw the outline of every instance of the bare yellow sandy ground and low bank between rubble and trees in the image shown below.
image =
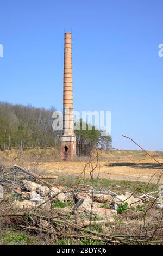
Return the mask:
[[(35, 150), (38, 155), (39, 150)], [(86, 162), (85, 158), (77, 158), (74, 161), (52, 161), (53, 155), (52, 150), (46, 150), (45, 159), (42, 160), (42, 151), (41, 160), (32, 160), (31, 154), (33, 151), (27, 150), (24, 152), (24, 155), (29, 156), (30, 160), (14, 160), (16, 156), (15, 151), (10, 151), (10, 155), (2, 155), (0, 160), (3, 159), (3, 164), (7, 166), (13, 166), (14, 164), (19, 164), (24, 168), (29, 168), (36, 173), (40, 174), (53, 174), (59, 176), (74, 175), (79, 176)], [(44, 152), (45, 153), (45, 152)], [(161, 151), (152, 151), (150, 154), (162, 163), (163, 166), (163, 152)], [(40, 155), (39, 155), (40, 156)], [(49, 159), (48, 159), (49, 157)], [(38, 158), (38, 157), (37, 157)], [(12, 161), (11, 161), (12, 160)], [(1, 161), (2, 162), (2, 161)], [(96, 162), (92, 162), (95, 166)], [(135, 164), (136, 163), (136, 164)], [(99, 153), (98, 166), (94, 171), (94, 177), (96, 178), (99, 175), (99, 178), (106, 178), (111, 180), (130, 180), (130, 181), (145, 181), (145, 182), (158, 182), (159, 176), (162, 170), (158, 163), (155, 162), (151, 157), (142, 151), (117, 151), (110, 150), (108, 153), (102, 151)], [(87, 166), (85, 170), (85, 176), (90, 178), (90, 168)], [(160, 178), (160, 183), (163, 183), (163, 176)]]

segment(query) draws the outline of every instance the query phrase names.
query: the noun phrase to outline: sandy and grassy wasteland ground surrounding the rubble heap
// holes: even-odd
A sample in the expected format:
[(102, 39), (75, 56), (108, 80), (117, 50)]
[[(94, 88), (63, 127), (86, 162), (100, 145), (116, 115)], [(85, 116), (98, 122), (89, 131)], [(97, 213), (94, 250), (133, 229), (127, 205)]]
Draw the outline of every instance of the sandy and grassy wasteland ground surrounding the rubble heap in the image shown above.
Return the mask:
[[(1, 153), (0, 159), (1, 164), (5, 167), (18, 164), (38, 175), (57, 175), (58, 179), (53, 181), (53, 185), (61, 190), (70, 188), (70, 191), (72, 191), (74, 187), (86, 184), (88, 186), (93, 185), (96, 190), (110, 190), (117, 194), (125, 194), (127, 191), (133, 193), (137, 190), (134, 196), (138, 198), (140, 193), (153, 192), (158, 190), (159, 185), (163, 184), (162, 167), (155, 161), (157, 160), (163, 164), (163, 153), (159, 151), (149, 152), (154, 157), (154, 160), (143, 151), (99, 150), (98, 162), (97, 157), (91, 162), (93, 167), (98, 163), (93, 171), (93, 179), (90, 176), (92, 168), (90, 163), (85, 168), (85, 163), (90, 160), (87, 157), (77, 157), (73, 161), (62, 161), (55, 154), (54, 149), (28, 149), (24, 150), (23, 155), (18, 150), (11, 150)], [(92, 159), (95, 155), (96, 153), (92, 155)], [(14, 194), (11, 194), (11, 196), (15, 197)], [(153, 194), (153, 196), (157, 196), (157, 193)], [(162, 210), (157, 209), (153, 202), (154, 200), (148, 198), (143, 205), (135, 207), (132, 205), (124, 209), (121, 214), (114, 216), (114, 222), (106, 222), (103, 225), (97, 224), (95, 227), (91, 227), (92, 232), (112, 234), (114, 236), (113, 240), (110, 240), (110, 238), (108, 240), (108, 236), (103, 235), (93, 238), (95, 234), (90, 237), (89, 232), (81, 230), (74, 238), (74, 232), (76, 231), (71, 230), (72, 228), (67, 227), (67, 225), (62, 227), (60, 222), (56, 222), (58, 227), (54, 227), (53, 224), (53, 229), (60, 228), (60, 233), (58, 233), (60, 235), (56, 239), (52, 234), (47, 234), (46, 228), (41, 229), (41, 232), (29, 231), (29, 227), (27, 227), (28, 229), (20, 229), (19, 224), (22, 220), (15, 221), (14, 219), (13, 221), (8, 219), (7, 221), (2, 221), (0, 244), (162, 244)], [(96, 200), (95, 203), (100, 204)], [(72, 215), (73, 207), (74, 202), (72, 199), (68, 203), (53, 203), (53, 215), (61, 215), (64, 216), (65, 220), (74, 221), (74, 215)], [(103, 202), (99, 207), (110, 208), (110, 203)], [(68, 213), (61, 214), (61, 209), (69, 210)], [(78, 218), (80, 222), (81, 220), (90, 221), (88, 212), (85, 213), (84, 218), (83, 215), (78, 216)], [(92, 221), (97, 222), (103, 220), (105, 218), (97, 216), (92, 219)], [(28, 218), (25, 221), (28, 222)], [(36, 224), (39, 223), (36, 219), (34, 221)], [(31, 224), (23, 223), (23, 225), (30, 226)], [(38, 228), (39, 224), (35, 225), (36, 227)], [(86, 230), (88, 229), (89, 227), (86, 227)], [(147, 236), (145, 235), (146, 231)], [(67, 232), (71, 233), (70, 237), (67, 236)], [(63, 233), (66, 235), (63, 235)]]

